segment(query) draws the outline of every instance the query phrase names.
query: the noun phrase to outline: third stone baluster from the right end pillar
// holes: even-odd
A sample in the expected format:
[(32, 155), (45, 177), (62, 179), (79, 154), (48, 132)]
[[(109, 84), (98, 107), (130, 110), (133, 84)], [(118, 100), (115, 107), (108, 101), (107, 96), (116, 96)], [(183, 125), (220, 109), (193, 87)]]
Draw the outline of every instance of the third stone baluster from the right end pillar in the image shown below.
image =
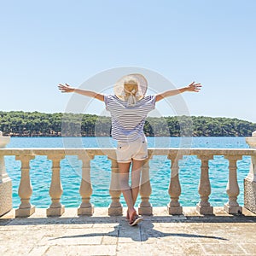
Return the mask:
[[(181, 156), (182, 158), (182, 156)], [(171, 201), (167, 205), (167, 210), (169, 214), (177, 215), (183, 213), (183, 207), (180, 206), (178, 201), (181, 194), (181, 186), (178, 177), (178, 160), (181, 158), (176, 158), (176, 156), (168, 155), (168, 159), (171, 160), (171, 180), (169, 184), (168, 193), (170, 195)]]

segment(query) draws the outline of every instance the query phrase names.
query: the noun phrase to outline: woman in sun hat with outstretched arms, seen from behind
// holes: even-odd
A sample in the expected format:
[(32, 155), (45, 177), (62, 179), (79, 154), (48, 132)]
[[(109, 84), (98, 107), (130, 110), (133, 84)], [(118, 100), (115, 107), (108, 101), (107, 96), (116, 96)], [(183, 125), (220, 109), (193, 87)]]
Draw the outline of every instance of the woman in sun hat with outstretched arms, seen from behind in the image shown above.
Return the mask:
[[(201, 90), (201, 84), (195, 82), (177, 90), (166, 90), (155, 96), (145, 96), (148, 82), (141, 74), (129, 74), (114, 85), (114, 95), (102, 95), (90, 90), (73, 88), (68, 84), (59, 84), (61, 92), (76, 92), (105, 102), (111, 114), (113, 139), (117, 140), (117, 162), (119, 165), (119, 183), (128, 207), (126, 219), (130, 225), (143, 220), (134, 207), (139, 192), (139, 183), (143, 160), (148, 158), (147, 139), (143, 126), (148, 113), (154, 109), (155, 102), (175, 96), (185, 91)], [(129, 171), (131, 167), (131, 186)]]

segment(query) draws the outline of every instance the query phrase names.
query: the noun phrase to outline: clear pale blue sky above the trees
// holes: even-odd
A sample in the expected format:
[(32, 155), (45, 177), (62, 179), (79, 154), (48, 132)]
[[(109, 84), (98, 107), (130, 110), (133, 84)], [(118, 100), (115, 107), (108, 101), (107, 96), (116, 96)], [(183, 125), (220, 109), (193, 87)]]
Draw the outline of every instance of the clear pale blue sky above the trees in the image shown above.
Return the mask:
[[(182, 95), (190, 115), (256, 123), (255, 13), (254, 0), (0, 0), (0, 111), (66, 112), (73, 96), (58, 84), (131, 67), (176, 88), (201, 83)], [(84, 113), (104, 109), (91, 106)]]

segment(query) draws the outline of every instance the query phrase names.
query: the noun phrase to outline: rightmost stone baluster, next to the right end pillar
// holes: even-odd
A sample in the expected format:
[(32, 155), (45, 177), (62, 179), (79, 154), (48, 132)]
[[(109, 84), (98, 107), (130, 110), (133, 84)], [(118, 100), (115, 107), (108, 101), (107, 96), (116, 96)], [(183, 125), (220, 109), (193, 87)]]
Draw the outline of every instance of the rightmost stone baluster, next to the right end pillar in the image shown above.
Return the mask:
[(227, 194), (229, 195), (229, 201), (224, 205), (224, 211), (237, 214), (241, 213), (241, 207), (237, 203), (237, 196), (239, 195), (239, 186), (237, 183), (237, 166), (236, 161), (241, 160), (241, 155), (224, 155), (226, 160), (229, 160), (229, 181), (227, 183)]

